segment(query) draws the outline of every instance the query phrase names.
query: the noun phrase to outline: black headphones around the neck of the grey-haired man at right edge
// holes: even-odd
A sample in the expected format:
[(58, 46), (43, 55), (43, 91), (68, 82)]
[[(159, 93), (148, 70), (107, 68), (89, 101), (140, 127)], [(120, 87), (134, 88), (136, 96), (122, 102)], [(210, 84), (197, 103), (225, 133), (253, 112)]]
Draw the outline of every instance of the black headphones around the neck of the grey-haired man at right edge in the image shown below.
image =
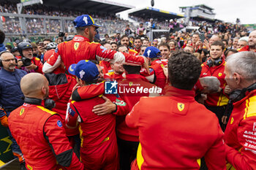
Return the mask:
[(247, 88), (233, 90), (230, 93), (230, 101), (232, 101), (232, 102), (240, 101), (242, 98), (244, 98), (246, 96), (246, 91), (250, 92), (255, 89), (256, 89), (256, 82)]

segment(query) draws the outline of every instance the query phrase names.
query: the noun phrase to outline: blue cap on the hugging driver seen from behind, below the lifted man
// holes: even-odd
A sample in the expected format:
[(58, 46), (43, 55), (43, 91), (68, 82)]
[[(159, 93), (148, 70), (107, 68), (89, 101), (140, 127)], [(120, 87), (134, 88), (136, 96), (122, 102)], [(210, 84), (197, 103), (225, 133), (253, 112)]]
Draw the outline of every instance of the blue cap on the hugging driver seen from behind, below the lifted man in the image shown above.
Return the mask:
[(72, 64), (69, 66), (69, 73), (85, 82), (97, 80), (99, 76), (99, 70), (96, 64), (89, 60), (82, 60)]

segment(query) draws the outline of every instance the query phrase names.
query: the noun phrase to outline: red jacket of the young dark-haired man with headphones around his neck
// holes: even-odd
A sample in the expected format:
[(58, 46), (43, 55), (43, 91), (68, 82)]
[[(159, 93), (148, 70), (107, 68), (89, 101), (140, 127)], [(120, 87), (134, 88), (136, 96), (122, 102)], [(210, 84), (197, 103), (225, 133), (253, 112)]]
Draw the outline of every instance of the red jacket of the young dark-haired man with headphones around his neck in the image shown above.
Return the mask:
[[(207, 94), (207, 99), (205, 104), (210, 107), (222, 107), (227, 105), (228, 98), (223, 92), (227, 82), (225, 81), (225, 61), (222, 59), (222, 63), (219, 66), (211, 66), (209, 67), (207, 61), (202, 63), (202, 71), (200, 77), (214, 76), (217, 77), (220, 82), (220, 88), (222, 88), (222, 92), (220, 93), (211, 93)], [(198, 80), (199, 81), (199, 80)]]

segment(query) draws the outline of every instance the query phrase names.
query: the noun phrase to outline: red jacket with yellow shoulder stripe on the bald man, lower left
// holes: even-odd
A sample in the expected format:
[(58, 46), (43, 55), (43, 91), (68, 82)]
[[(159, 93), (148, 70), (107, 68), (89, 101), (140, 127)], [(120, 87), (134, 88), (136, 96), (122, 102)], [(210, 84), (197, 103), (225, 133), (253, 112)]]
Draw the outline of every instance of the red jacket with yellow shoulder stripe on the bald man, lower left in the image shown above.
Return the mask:
[(27, 169), (83, 169), (56, 112), (25, 103), (12, 111), (8, 119)]

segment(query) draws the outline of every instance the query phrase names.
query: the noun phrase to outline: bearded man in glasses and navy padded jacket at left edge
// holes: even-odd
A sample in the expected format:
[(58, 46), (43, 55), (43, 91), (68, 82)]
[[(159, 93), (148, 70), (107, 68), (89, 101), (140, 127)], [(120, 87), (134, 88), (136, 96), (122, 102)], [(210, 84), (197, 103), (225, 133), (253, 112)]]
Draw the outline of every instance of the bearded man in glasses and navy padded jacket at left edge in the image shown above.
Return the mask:
[(23, 153), (20, 151), (20, 147), (12, 137), (9, 129), (8, 117), (12, 110), (23, 104), (23, 93), (20, 90), (20, 80), (26, 75), (26, 72), (20, 69), (15, 69), (17, 59), (12, 53), (2, 51), (0, 53), (0, 59), (0, 122), (1, 125), (7, 127), (7, 132), (12, 141), (12, 153), (15, 157), (18, 157), (20, 168), (25, 170), (25, 159), (23, 158)]

